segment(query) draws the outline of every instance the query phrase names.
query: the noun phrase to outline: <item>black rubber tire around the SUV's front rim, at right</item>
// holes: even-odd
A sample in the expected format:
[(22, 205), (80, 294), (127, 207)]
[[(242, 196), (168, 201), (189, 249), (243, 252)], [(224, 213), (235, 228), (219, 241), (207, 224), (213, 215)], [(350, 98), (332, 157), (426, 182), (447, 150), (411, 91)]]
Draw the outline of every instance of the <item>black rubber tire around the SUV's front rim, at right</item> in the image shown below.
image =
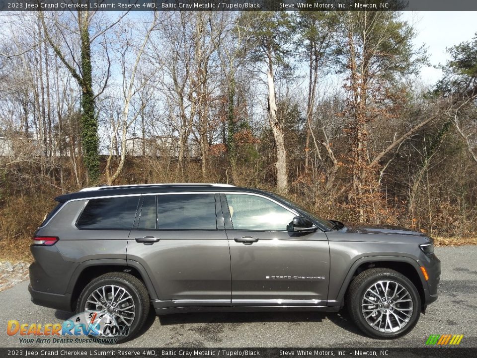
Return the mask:
[[(392, 323), (394, 324), (394, 329), (397, 329), (397, 331), (395, 332), (383, 332), (379, 330), (379, 329), (384, 329), (384, 330), (386, 329), (387, 327), (386, 325), (388, 324), (386, 319), (384, 322), (385, 324), (384, 327), (379, 326), (377, 328), (373, 328), (372, 323), (368, 323), (368, 321), (366, 320), (365, 313), (362, 311), (362, 308), (361, 308), (363, 302), (366, 303), (369, 301), (364, 298), (364, 295), (367, 293), (368, 288), (379, 281), (397, 282), (399, 285), (401, 285), (407, 290), (410, 296), (410, 299), (412, 300), (412, 302), (409, 301), (408, 303), (407, 302), (398, 303), (398, 304), (394, 303), (394, 306), (397, 306), (397, 307), (400, 307), (400, 305), (404, 305), (404, 304), (408, 305), (407, 307), (409, 307), (409, 305), (412, 303), (412, 314), (410, 315), (410, 317), (408, 317), (407, 323), (401, 322), (400, 320), (396, 320), (396, 318), (393, 318), (393, 314), (390, 313)], [(368, 296), (368, 297), (371, 297), (371, 296)], [(407, 298), (407, 300), (408, 299), (409, 298)], [(376, 300), (378, 299), (376, 298)], [(378, 338), (378, 339), (394, 339), (394, 338), (404, 336), (409, 331), (411, 331), (412, 328), (414, 328), (417, 321), (419, 320), (419, 316), (421, 313), (421, 299), (416, 287), (406, 276), (404, 276), (403, 274), (393, 269), (381, 269), (381, 268), (368, 269), (366, 271), (361, 272), (359, 275), (357, 275), (353, 279), (353, 281), (351, 282), (349, 286), (348, 293), (346, 296), (346, 303), (347, 303), (349, 314), (351, 318), (353, 319), (353, 321), (355, 322), (355, 324), (358, 326), (358, 328), (361, 329), (361, 331), (366, 333), (368, 336), (373, 338)], [(376, 303), (381, 303), (381, 302), (376, 302)], [(389, 309), (390, 310), (393, 309), (394, 313), (398, 313), (394, 306), (391, 306)], [(376, 317), (378, 318), (381, 317), (379, 315), (383, 316), (384, 314), (386, 314), (385, 312), (389, 312), (386, 310), (386, 307), (389, 307), (388, 304), (383, 305), (383, 308), (380, 308), (384, 310), (384, 314), (382, 314), (382, 311), (375, 308), (375, 307), (378, 307), (378, 305), (370, 304), (368, 307), (373, 307), (371, 311), (373, 310), (375, 311), (371, 312), (371, 314), (377, 314), (378, 316)], [(405, 307), (406, 306), (404, 306), (404, 308)], [(366, 315), (368, 314), (368, 312), (366, 312)], [(402, 313), (398, 313), (398, 315), (400, 315), (400, 317), (405, 317), (405, 316), (402, 316)], [(376, 317), (370, 317), (369, 319), (372, 320), (372, 318), (376, 318)], [(407, 317), (405, 318), (407, 319)], [(397, 322), (400, 323), (400, 325), (402, 325), (402, 328), (400, 328), (400, 325), (396, 327), (396, 325), (398, 324)], [(388, 330), (390, 329), (388, 328)]]

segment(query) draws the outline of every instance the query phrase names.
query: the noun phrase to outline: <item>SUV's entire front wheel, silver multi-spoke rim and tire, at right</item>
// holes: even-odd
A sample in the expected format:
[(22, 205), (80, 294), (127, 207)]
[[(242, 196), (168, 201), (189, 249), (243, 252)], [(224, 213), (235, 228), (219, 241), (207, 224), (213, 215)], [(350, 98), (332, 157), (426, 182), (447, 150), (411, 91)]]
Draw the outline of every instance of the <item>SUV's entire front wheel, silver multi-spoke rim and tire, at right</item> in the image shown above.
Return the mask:
[(369, 269), (351, 282), (348, 310), (356, 325), (374, 338), (393, 339), (407, 334), (421, 313), (414, 284), (392, 269)]

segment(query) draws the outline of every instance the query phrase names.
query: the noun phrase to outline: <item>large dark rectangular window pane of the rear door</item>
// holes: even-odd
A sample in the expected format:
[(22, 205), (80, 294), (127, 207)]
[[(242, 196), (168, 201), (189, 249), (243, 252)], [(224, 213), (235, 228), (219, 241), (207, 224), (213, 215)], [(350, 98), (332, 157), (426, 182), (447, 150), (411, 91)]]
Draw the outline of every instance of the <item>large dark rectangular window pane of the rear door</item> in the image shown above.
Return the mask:
[(158, 195), (158, 229), (217, 229), (214, 194)]

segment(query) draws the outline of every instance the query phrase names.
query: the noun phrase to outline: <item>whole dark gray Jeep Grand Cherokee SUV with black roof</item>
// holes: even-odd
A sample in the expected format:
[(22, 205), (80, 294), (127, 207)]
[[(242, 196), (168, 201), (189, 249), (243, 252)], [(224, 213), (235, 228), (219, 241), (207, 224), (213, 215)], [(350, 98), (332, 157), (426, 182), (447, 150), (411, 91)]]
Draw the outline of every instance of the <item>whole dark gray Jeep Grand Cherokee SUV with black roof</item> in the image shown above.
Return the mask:
[(432, 239), (323, 220), (272, 192), (148, 184), (56, 200), (31, 246), (32, 301), (108, 314), (128, 327), (127, 339), (150, 309), (337, 312), (345, 305), (369, 336), (396, 338), (437, 299)]

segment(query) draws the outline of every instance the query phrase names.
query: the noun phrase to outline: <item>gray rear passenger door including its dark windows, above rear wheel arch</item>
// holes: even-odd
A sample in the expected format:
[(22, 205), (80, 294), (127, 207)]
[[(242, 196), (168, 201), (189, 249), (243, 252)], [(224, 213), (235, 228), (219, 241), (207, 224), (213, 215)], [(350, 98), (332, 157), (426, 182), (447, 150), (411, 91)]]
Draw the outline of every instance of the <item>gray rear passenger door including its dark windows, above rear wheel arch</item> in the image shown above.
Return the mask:
[(163, 307), (230, 306), (230, 252), (219, 194), (143, 195), (127, 259), (148, 271)]

